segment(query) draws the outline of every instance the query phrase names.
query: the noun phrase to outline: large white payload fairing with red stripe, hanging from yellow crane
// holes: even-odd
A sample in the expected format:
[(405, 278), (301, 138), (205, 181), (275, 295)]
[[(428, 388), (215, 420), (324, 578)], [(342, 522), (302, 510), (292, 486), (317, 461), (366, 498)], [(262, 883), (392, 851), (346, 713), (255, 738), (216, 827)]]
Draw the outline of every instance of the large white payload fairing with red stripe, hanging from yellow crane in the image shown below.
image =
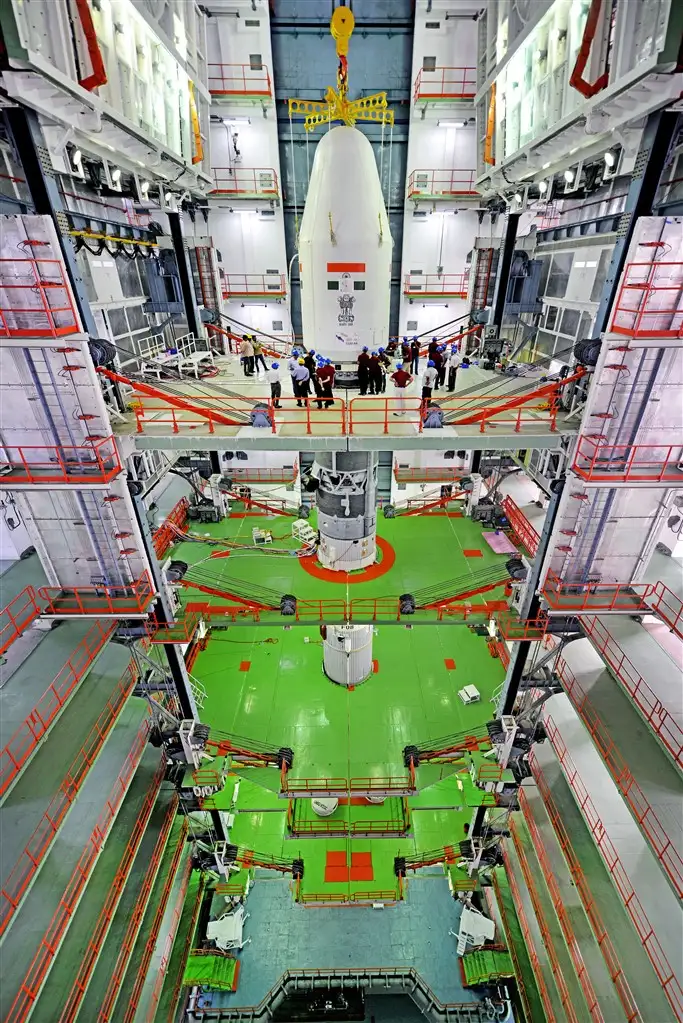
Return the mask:
[(356, 363), (389, 339), (392, 235), (372, 146), (357, 128), (316, 147), (299, 235), (304, 343)]

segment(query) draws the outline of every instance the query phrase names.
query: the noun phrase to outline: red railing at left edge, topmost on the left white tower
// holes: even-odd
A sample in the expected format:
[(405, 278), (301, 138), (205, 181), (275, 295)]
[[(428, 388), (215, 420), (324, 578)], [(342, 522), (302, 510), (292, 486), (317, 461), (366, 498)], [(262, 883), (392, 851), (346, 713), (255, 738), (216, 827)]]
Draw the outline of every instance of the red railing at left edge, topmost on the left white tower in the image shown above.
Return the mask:
[(0, 259), (0, 338), (60, 338), (80, 329), (60, 260)]

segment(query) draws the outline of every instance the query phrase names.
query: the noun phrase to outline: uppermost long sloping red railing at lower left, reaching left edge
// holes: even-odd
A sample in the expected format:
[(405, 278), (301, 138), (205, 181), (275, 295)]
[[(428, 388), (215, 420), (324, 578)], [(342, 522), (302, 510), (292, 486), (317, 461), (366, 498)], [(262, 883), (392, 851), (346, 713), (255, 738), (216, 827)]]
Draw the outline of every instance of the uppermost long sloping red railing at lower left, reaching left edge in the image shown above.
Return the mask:
[(16, 780), (76, 686), (87, 675), (113, 629), (113, 623), (102, 626), (96, 622), (88, 630), (27, 719), (0, 752), (0, 796), (3, 796)]

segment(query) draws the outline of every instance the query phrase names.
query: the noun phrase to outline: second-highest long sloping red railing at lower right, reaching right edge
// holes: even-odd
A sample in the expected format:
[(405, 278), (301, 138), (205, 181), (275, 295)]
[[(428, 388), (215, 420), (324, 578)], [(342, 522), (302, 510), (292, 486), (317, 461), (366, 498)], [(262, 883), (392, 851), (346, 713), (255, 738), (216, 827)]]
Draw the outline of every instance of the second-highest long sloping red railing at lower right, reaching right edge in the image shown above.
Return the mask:
[(679, 898), (683, 898), (683, 858), (676, 848), (676, 840), (672, 840), (667, 834), (665, 825), (634, 779), (624, 757), (614, 746), (602, 718), (591, 704), (590, 698), (584, 692), (579, 679), (562, 657), (557, 659), (555, 671), (562, 679), (564, 692), (576, 707), (579, 717), (586, 725), (595, 746), (600, 752), (605, 767), (611, 774), (617, 788), (626, 800), (639, 828), (655, 852), (663, 870), (674, 885)]

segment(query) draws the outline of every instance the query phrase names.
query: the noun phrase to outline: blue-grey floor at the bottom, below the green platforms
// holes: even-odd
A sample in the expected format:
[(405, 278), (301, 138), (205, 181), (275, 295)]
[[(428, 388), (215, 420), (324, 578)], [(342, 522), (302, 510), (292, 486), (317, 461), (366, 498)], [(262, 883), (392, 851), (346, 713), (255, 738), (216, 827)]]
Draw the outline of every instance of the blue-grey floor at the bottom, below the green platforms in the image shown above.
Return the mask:
[[(214, 909), (216, 909), (216, 905)], [(463, 988), (455, 951), (461, 907), (443, 874), (410, 880), (408, 899), (385, 909), (295, 905), (287, 881), (258, 878), (246, 900), (249, 919), (239, 952), (237, 990), (213, 991), (204, 1007), (257, 1006), (286, 970), (413, 967), (440, 1002), (475, 1002)]]

